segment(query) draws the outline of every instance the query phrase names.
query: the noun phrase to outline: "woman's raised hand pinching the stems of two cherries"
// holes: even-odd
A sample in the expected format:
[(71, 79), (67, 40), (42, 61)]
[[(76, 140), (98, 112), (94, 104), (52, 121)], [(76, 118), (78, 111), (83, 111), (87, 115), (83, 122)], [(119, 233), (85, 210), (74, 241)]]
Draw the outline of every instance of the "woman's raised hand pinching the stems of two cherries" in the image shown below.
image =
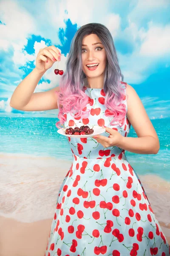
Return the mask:
[(39, 72), (45, 72), (52, 67), (55, 61), (61, 60), (61, 53), (54, 46), (48, 46), (40, 49), (36, 58), (36, 69)]

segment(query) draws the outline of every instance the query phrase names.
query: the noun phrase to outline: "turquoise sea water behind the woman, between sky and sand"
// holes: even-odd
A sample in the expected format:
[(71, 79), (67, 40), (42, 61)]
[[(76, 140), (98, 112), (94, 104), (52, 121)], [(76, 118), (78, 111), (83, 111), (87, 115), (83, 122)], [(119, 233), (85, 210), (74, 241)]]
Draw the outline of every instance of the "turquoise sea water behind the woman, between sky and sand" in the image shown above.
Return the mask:
[[(0, 117), (0, 152), (72, 160), (66, 137), (57, 133), (57, 121), (58, 118)], [(170, 118), (153, 119), (151, 122), (159, 137), (159, 153), (126, 151), (125, 155), (137, 174), (155, 174), (170, 180)], [(128, 137), (137, 137), (132, 126)]]

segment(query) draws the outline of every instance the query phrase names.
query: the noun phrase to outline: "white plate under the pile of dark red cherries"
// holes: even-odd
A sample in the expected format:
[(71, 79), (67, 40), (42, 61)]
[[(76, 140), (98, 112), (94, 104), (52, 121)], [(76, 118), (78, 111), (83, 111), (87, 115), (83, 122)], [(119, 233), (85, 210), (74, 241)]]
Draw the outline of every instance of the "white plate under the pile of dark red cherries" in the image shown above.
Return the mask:
[[(81, 125), (77, 124), (77, 125), (69, 126), (69, 127), (75, 128), (76, 126), (80, 127), (80, 126), (82, 126), (82, 124)], [(69, 127), (65, 127), (65, 128), (69, 128)], [(93, 130), (94, 130), (93, 134), (85, 134), (85, 135), (74, 135), (73, 134), (73, 135), (70, 135), (70, 134), (65, 134), (65, 128), (59, 129), (59, 130), (57, 130), (57, 132), (61, 135), (67, 136), (67, 137), (76, 137), (76, 138), (93, 137), (95, 135), (99, 135), (99, 134), (102, 134), (103, 132), (105, 132), (105, 128), (102, 128), (99, 125), (90, 125), (89, 128), (93, 128)]]

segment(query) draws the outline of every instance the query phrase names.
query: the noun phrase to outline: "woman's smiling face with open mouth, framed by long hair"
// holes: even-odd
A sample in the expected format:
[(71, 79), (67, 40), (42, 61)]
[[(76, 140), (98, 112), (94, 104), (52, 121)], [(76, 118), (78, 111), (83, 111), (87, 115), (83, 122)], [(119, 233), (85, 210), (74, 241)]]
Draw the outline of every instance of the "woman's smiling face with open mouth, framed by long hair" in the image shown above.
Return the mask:
[[(102, 75), (106, 67), (106, 60), (105, 48), (98, 36), (96, 34), (86, 35), (82, 40), (82, 70), (86, 77)], [(86, 66), (92, 63), (99, 63), (95, 70), (89, 70)]]

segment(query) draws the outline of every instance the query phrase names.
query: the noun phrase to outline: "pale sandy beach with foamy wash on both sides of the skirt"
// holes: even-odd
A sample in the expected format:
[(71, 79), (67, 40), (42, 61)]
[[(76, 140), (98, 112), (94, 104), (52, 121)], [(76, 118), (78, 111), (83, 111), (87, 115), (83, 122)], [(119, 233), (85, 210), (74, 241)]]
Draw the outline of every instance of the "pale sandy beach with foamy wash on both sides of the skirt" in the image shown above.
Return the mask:
[[(44, 256), (59, 187), (71, 161), (0, 154), (0, 256)], [(139, 176), (170, 243), (170, 182)]]

